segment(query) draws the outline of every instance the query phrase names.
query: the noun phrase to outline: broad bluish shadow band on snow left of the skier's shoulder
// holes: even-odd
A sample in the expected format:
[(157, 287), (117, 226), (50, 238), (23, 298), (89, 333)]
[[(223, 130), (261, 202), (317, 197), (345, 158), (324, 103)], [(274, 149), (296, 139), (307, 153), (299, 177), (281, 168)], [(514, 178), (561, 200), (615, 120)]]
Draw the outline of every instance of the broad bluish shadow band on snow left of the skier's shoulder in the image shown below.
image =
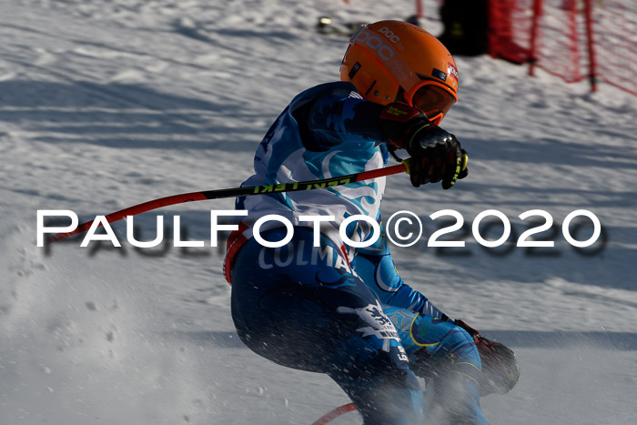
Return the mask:
[[(228, 113), (233, 118), (246, 115), (227, 102), (177, 96), (135, 84), (0, 82), (0, 122), (19, 122), (32, 140), (45, 143), (254, 150), (265, 129), (228, 126)], [(248, 122), (254, 119), (245, 117)]]

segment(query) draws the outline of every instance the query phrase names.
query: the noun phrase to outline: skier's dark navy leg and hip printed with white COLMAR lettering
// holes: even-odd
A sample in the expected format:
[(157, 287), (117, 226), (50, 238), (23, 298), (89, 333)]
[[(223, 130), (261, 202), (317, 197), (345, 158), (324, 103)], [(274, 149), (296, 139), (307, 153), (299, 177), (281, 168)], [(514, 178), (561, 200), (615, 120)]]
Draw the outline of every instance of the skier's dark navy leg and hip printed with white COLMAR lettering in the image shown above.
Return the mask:
[[(378, 300), (348, 267), (336, 267), (339, 250), (329, 243), (321, 260), (332, 264), (312, 265), (312, 233), (296, 233), (278, 252), (256, 242), (239, 251), (232, 293), (239, 336), (278, 364), (328, 373), (366, 424), (419, 423), (420, 384)], [(303, 248), (299, 238), (307, 238)]]

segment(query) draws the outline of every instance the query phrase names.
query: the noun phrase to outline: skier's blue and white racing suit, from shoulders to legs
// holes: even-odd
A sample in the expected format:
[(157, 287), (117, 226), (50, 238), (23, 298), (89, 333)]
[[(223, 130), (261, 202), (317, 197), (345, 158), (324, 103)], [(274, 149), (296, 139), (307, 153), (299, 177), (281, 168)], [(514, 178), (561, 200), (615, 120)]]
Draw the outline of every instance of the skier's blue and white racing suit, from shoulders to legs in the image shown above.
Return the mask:
[[(310, 88), (278, 116), (258, 147), (255, 174), (244, 186), (344, 176), (383, 167), (388, 152), (379, 106), (346, 82)], [(480, 355), (464, 329), (405, 284), (383, 236), (379, 213), (385, 177), (339, 187), (238, 197), (248, 215), (228, 239), (224, 271), (232, 284), (232, 318), (258, 355), (289, 368), (329, 375), (366, 424), (487, 423), (480, 411)], [(278, 215), (293, 226), (287, 245), (254, 238), (259, 218)], [(366, 248), (344, 243), (346, 218), (377, 220), (379, 238)], [(315, 224), (308, 216), (329, 216)], [(344, 226), (366, 241), (364, 221)], [(286, 238), (281, 221), (259, 235)], [(316, 246), (315, 246), (316, 245)], [(417, 376), (434, 396), (425, 410)], [(436, 416), (438, 415), (438, 416)]]

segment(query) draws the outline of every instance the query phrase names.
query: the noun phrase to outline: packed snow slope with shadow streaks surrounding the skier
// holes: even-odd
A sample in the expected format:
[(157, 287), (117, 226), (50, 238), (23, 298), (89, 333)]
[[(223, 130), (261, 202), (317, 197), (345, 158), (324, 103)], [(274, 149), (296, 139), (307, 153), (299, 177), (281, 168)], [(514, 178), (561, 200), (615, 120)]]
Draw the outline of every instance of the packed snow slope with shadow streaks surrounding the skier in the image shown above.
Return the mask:
[[(440, 34), (437, 3), (424, 22)], [(328, 378), (245, 349), (229, 315), (217, 248), (172, 248), (172, 216), (207, 240), (209, 211), (232, 199), (136, 218), (158, 248), (80, 240), (35, 245), (36, 211), (80, 220), (155, 197), (237, 187), (271, 121), (300, 90), (339, 76), (338, 22), (405, 18), (407, 0), (4, 0), (0, 3), (0, 423), (300, 424), (348, 402)], [(515, 349), (519, 385), (482, 400), (493, 424), (626, 424), (637, 417), (637, 98), (596, 94), (488, 57), (458, 57), (460, 102), (443, 126), (470, 153), (452, 190), (388, 178), (384, 216), (425, 224), (396, 248), (405, 280), (451, 316)], [(465, 248), (428, 248), (460, 212)], [(470, 228), (486, 209), (510, 243), (484, 248)], [(551, 214), (518, 248), (519, 215)], [(572, 248), (561, 223), (578, 209), (602, 224)], [(539, 219), (539, 218), (534, 218)], [(486, 220), (485, 223), (487, 223)], [(490, 240), (502, 226), (481, 227)], [(571, 224), (579, 240), (590, 220)], [(578, 230), (579, 229), (579, 230)], [(184, 236), (184, 235), (182, 235)], [(335, 423), (359, 423), (349, 413)]]

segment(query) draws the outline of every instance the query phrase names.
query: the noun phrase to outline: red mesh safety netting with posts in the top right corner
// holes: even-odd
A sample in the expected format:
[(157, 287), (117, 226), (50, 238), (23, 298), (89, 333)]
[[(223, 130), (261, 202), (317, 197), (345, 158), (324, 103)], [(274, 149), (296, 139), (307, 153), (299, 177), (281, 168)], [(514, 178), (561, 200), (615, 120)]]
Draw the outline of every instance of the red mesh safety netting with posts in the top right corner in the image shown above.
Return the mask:
[[(590, 8), (587, 8), (590, 7)], [(637, 1), (490, 0), (490, 55), (637, 95)], [(593, 86), (594, 89), (594, 86)]]

